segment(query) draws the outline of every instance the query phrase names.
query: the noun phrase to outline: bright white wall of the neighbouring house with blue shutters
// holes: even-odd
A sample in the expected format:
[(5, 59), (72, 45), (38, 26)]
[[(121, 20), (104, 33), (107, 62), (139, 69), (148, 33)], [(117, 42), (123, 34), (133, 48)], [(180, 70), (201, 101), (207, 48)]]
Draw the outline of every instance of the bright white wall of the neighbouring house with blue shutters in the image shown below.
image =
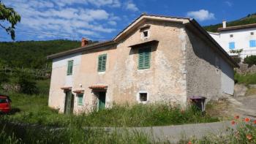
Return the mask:
[[(251, 35), (251, 32), (254, 34)], [(247, 29), (236, 29), (229, 31), (219, 31), (219, 33), (208, 32), (211, 37), (213, 37), (219, 45), (230, 54), (229, 42), (235, 42), (235, 48), (233, 50), (243, 49), (241, 53), (241, 58), (246, 56), (256, 55), (256, 47), (250, 48), (249, 41), (256, 40), (256, 28), (247, 28)], [(233, 34), (233, 37), (230, 37), (230, 34)]]

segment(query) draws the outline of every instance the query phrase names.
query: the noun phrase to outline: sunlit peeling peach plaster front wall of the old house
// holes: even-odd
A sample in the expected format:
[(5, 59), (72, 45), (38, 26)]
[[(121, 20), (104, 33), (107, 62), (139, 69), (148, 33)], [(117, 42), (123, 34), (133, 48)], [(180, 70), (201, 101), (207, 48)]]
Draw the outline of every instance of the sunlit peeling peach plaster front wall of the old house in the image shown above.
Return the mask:
[[(151, 45), (149, 69), (138, 69), (138, 48), (129, 48), (130, 45), (145, 42), (141, 39), (140, 29), (132, 31), (112, 48), (81, 53), (80, 68), (73, 77), (72, 91), (83, 89), (84, 99), (83, 105), (77, 105), (78, 98), (75, 95), (75, 113), (88, 112), (97, 107), (97, 93), (89, 88), (94, 85), (108, 86), (106, 107), (111, 107), (113, 103), (138, 103), (140, 91), (148, 93), (148, 102), (186, 104), (187, 34), (184, 26), (157, 20), (147, 20), (141, 26), (145, 25), (150, 25), (148, 41), (159, 41), (157, 45)], [(107, 54), (105, 72), (97, 72), (98, 56), (101, 54)], [(51, 93), (65, 83), (66, 72), (67, 67), (53, 69), (49, 97), (51, 107), (64, 106), (64, 94), (59, 90), (58, 93)]]

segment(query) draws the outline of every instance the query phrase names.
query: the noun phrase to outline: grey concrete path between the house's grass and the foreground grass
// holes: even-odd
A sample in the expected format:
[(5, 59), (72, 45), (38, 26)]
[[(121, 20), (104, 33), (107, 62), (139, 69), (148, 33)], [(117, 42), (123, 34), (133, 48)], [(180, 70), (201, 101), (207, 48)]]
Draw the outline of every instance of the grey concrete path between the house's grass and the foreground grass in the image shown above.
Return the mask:
[(191, 137), (198, 139), (207, 134), (227, 134), (227, 128), (236, 129), (230, 121), (221, 121), (205, 124), (184, 124), (175, 126), (153, 126), (153, 127), (135, 127), (135, 128), (105, 128), (106, 132), (128, 129), (133, 132), (143, 132), (155, 141), (169, 141), (178, 143), (179, 140), (188, 140)]

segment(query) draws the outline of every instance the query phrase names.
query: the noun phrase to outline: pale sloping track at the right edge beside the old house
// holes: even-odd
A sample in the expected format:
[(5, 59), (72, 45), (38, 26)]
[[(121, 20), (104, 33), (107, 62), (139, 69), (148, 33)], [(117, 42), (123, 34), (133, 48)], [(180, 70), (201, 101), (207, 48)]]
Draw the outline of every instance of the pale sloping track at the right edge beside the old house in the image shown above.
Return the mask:
[(251, 96), (228, 96), (230, 102), (230, 113), (233, 115), (241, 115), (243, 118), (251, 118), (256, 120), (256, 95)]

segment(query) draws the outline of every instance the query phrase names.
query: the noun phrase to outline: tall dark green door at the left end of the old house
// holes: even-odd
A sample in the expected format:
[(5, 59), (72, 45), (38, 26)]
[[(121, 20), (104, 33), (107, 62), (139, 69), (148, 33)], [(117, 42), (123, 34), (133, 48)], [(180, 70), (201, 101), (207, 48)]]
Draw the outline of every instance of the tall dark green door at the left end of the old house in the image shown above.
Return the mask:
[(72, 114), (73, 109), (74, 109), (74, 95), (72, 94), (71, 91), (66, 91), (66, 96), (65, 96), (65, 109), (64, 113), (65, 114)]

